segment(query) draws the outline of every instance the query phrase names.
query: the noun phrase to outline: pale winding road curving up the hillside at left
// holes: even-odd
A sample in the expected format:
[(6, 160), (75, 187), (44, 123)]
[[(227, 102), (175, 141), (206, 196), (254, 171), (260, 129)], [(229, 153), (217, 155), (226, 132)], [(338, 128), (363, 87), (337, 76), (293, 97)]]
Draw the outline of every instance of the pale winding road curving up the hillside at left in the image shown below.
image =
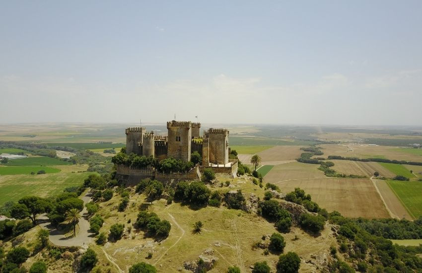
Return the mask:
[[(75, 237), (65, 237), (63, 231), (57, 230), (55, 227), (52, 227), (47, 221), (39, 224), (41, 228), (50, 231), (49, 239), (56, 246), (82, 246), (84, 244), (87, 245), (94, 240), (95, 234), (89, 232), (89, 222), (87, 220), (88, 212), (85, 207), (85, 204), (89, 203), (92, 200), (91, 193), (87, 191), (84, 196), (82, 196), (80, 199), (83, 201), (83, 209), (81, 211), (82, 217), (79, 219), (79, 231), (76, 233)], [(38, 217), (38, 220), (48, 220), (47, 215), (44, 214)]]

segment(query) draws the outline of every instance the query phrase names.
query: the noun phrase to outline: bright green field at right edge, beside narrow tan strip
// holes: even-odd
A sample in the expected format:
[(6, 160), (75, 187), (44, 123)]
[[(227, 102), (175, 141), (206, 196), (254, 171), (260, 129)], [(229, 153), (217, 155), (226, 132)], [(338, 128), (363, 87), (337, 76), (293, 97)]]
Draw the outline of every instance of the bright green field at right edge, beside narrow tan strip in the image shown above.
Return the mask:
[(410, 215), (422, 216), (422, 182), (387, 180), (388, 186), (400, 199)]

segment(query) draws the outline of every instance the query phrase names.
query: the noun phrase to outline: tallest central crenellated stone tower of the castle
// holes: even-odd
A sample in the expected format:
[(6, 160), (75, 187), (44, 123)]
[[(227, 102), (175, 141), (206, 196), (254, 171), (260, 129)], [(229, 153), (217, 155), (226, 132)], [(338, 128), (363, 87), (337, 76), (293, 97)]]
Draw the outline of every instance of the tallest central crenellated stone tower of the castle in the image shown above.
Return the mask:
[(169, 121), (167, 156), (183, 161), (191, 160), (192, 123), (190, 121)]

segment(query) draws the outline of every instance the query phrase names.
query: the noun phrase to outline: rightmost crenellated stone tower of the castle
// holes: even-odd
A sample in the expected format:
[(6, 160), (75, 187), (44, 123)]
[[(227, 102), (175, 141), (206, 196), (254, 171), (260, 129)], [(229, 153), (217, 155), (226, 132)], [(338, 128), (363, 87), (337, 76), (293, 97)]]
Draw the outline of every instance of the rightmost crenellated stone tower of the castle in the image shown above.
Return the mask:
[(209, 160), (212, 164), (228, 163), (228, 134), (227, 129), (212, 129), (207, 132), (209, 138)]

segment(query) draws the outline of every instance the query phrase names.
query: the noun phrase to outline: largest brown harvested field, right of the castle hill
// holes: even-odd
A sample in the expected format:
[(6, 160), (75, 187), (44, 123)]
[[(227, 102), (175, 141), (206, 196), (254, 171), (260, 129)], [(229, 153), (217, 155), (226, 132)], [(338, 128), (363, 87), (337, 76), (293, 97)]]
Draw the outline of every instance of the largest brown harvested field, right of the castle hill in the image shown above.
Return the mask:
[(307, 194), (310, 194), (312, 200), (321, 207), (326, 208), (328, 211), (337, 210), (347, 217), (390, 217), (369, 179), (302, 179), (278, 182), (277, 185), (282, 192), (287, 193), (299, 187)]

